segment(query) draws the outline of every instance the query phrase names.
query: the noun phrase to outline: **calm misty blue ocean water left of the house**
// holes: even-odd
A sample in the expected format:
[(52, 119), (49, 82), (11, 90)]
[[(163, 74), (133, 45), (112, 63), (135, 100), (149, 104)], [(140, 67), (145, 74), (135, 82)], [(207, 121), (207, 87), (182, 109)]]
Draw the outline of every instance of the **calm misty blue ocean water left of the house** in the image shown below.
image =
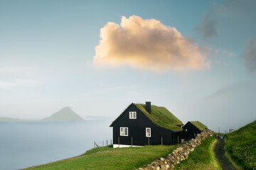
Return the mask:
[(93, 141), (112, 139), (111, 121), (0, 123), (0, 169), (14, 170), (75, 157)]

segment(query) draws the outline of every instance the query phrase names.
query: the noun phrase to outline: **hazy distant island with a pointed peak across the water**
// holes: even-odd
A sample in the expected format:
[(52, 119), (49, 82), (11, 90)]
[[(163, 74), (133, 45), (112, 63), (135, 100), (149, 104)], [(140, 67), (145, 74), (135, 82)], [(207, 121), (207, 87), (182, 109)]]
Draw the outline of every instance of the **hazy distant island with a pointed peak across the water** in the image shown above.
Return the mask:
[(24, 120), (16, 118), (0, 117), (0, 122), (81, 122), (85, 121), (77, 113), (72, 111), (70, 107), (62, 108), (60, 111), (53, 113), (48, 118), (41, 120)]

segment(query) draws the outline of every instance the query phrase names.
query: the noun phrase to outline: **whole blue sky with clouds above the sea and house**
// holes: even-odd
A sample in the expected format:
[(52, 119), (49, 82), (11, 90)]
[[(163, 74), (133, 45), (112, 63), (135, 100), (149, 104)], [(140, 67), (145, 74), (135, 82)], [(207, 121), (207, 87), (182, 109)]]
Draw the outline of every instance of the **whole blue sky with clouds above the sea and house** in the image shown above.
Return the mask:
[(41, 119), (69, 106), (114, 120), (151, 101), (184, 124), (240, 128), (256, 119), (255, 8), (0, 0), (0, 117)]

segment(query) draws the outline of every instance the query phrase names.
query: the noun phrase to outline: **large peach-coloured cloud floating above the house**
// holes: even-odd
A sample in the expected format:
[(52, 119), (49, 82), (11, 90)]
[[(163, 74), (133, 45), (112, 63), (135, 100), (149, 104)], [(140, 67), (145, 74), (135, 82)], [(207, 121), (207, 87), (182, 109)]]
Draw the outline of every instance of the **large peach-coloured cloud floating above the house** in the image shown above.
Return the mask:
[(100, 38), (100, 45), (95, 47), (94, 63), (97, 65), (129, 65), (156, 72), (208, 66), (192, 40), (155, 19), (122, 16), (120, 25), (109, 22), (101, 28)]

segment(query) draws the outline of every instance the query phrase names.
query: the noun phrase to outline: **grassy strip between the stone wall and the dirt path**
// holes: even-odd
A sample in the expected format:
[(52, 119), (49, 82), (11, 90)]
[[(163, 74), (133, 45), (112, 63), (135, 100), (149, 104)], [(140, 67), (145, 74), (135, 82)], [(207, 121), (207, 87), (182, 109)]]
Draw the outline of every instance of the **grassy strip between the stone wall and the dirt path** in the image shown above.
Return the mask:
[(188, 156), (188, 159), (177, 164), (175, 169), (221, 169), (213, 152), (215, 138), (207, 137), (201, 145), (195, 148)]

